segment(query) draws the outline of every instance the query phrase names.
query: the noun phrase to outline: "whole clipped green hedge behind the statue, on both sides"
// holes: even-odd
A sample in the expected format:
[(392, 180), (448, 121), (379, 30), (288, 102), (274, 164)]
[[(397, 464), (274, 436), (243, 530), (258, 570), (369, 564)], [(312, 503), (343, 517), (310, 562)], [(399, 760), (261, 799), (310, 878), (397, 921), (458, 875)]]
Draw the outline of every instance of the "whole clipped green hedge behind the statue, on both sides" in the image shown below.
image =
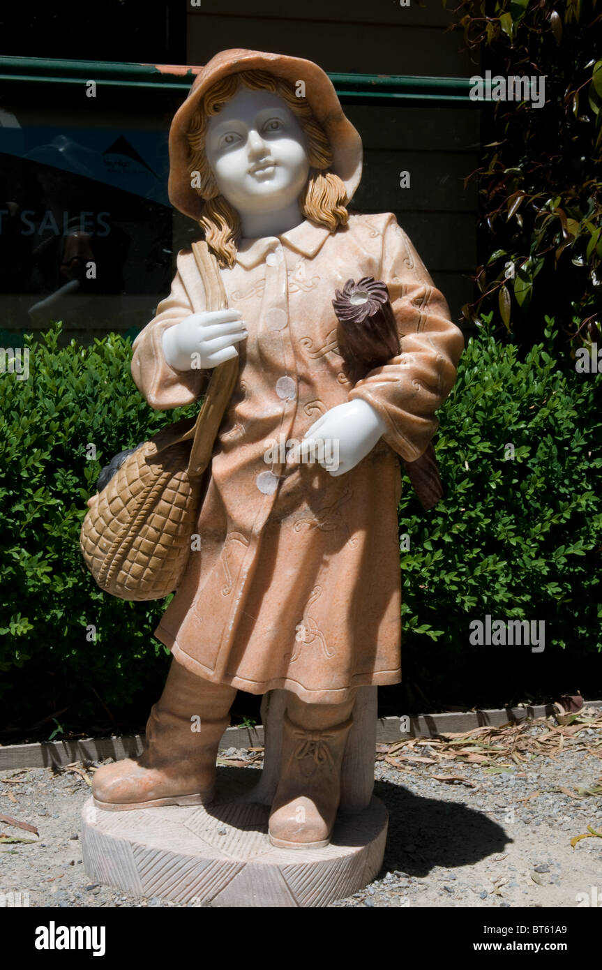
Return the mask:
[[(59, 334), (26, 338), (27, 380), (0, 373), (0, 699), (29, 725), (64, 707), (67, 722), (89, 723), (163, 675), (152, 630), (165, 601), (101, 593), (79, 528), (102, 465), (190, 413), (145, 404), (129, 340), (63, 347)], [(601, 649), (600, 377), (572, 366), (542, 346), (520, 361), (487, 331), (470, 341), (440, 414), (447, 497), (426, 513), (408, 487), (400, 505), (406, 656), (461, 657), (468, 623), (486, 613), (545, 619), (548, 641), (576, 655)]]

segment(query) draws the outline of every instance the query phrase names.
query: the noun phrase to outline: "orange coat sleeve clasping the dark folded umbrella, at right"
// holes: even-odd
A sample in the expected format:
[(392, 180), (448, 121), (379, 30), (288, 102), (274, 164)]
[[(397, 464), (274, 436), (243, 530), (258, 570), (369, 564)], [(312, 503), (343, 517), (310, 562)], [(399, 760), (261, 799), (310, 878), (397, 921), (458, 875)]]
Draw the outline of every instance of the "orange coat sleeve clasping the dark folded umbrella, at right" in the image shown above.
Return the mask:
[(456, 380), (463, 350), (461, 331), (414, 246), (388, 213), (382, 271), (396, 316), (400, 353), (358, 381), (350, 400), (363, 398), (388, 426), (385, 441), (412, 462), (423, 454)]

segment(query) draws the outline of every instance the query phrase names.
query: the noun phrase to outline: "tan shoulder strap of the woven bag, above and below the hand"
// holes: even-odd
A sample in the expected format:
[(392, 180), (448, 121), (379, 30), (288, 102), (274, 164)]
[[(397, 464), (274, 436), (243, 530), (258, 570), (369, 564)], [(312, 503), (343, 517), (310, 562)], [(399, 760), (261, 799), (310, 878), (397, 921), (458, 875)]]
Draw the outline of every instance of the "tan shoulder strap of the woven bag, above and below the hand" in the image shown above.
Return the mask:
[[(206, 309), (226, 309), (228, 297), (219, 264), (206, 242), (193, 242), (192, 251), (197, 268), (205, 285)], [(192, 438), (187, 474), (189, 478), (202, 475), (211, 460), (213, 444), (222, 423), (224, 411), (232, 397), (238, 377), (238, 356), (218, 364), (211, 372), (205, 399), (197, 415), (194, 427), (182, 440)]]

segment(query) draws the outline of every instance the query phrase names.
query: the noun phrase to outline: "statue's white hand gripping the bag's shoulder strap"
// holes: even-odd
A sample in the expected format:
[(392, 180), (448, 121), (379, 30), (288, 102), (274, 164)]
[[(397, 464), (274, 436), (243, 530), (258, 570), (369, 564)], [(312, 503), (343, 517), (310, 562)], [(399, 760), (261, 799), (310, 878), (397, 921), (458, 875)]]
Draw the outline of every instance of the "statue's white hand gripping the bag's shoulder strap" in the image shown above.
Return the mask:
[(217, 367), (238, 357), (235, 344), (246, 336), (238, 309), (206, 310), (168, 327), (163, 333), (163, 353), (175, 371)]

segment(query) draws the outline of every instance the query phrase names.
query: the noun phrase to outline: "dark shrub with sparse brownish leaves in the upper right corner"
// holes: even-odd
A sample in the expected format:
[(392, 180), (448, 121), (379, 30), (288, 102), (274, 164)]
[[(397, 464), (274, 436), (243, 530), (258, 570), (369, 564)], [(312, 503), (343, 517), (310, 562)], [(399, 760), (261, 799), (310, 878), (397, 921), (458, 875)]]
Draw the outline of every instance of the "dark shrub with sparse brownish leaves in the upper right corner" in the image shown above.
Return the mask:
[[(596, 0), (447, 6), (481, 65), (476, 70), (493, 77), (474, 173), (479, 296), (464, 316), (491, 311), (512, 339), (528, 345), (542, 339), (549, 314), (576, 344), (595, 341), (602, 310), (602, 11)], [(531, 96), (543, 90), (545, 104), (495, 100), (495, 77), (533, 78)]]

